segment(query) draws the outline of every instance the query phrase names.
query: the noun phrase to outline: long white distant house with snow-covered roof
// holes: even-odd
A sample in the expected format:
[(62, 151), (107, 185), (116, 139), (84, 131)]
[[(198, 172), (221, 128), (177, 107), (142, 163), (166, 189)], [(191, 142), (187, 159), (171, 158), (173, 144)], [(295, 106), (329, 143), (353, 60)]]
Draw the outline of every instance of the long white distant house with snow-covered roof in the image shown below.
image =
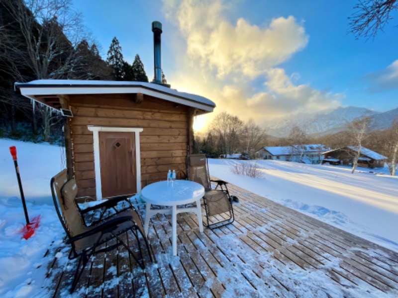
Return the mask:
[(330, 148), (321, 144), (264, 147), (256, 151), (256, 157), (318, 164), (322, 161), (322, 153), (327, 150), (330, 150)]

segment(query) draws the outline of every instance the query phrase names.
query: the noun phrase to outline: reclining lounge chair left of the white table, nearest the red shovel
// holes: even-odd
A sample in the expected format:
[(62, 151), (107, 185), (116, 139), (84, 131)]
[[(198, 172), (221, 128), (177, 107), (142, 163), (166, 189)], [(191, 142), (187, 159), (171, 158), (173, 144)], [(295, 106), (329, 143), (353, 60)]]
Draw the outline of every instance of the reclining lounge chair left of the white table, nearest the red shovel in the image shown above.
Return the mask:
[[(132, 206), (132, 209), (124, 209), (88, 226), (84, 221), (81, 210), (77, 206), (76, 195), (78, 188), (75, 179), (68, 180), (67, 172), (63, 170), (51, 179), (50, 186), (56, 212), (68, 236), (66, 243), (72, 246), (69, 259), (72, 260), (79, 257), (72, 288), (70, 290), (71, 293), (75, 290), (91, 256), (113, 250), (120, 245), (123, 245), (127, 249), (129, 255), (131, 255), (137, 264), (144, 269), (145, 265), (143, 262), (139, 234), (145, 242), (146, 249), (152, 262), (150, 248), (143, 233), (144, 229), (141, 219)], [(111, 202), (109, 206), (113, 208), (113, 204), (114, 202)], [(97, 209), (99, 208), (103, 215), (103, 210), (101, 209), (105, 208), (105, 206), (106, 204), (102, 203), (95, 207), (97, 207)], [(91, 211), (93, 211), (95, 207), (92, 207)], [(129, 231), (137, 240), (136, 244), (138, 246), (139, 258), (121, 239), (121, 235)], [(114, 244), (101, 247), (103, 243), (112, 239), (115, 240), (113, 241), (115, 242)], [(131, 243), (129, 244), (131, 245)]]

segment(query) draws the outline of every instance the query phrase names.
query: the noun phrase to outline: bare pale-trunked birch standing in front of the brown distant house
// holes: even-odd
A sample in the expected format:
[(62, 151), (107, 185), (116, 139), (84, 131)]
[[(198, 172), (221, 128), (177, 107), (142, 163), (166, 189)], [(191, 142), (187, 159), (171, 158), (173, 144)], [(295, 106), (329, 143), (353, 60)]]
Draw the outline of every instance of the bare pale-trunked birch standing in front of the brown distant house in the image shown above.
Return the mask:
[(352, 161), (351, 173), (354, 173), (358, 165), (358, 159), (361, 156), (362, 142), (364, 141), (366, 134), (368, 133), (370, 122), (371, 122), (370, 117), (364, 117), (361, 119), (354, 120), (348, 125), (354, 149), (354, 159)]

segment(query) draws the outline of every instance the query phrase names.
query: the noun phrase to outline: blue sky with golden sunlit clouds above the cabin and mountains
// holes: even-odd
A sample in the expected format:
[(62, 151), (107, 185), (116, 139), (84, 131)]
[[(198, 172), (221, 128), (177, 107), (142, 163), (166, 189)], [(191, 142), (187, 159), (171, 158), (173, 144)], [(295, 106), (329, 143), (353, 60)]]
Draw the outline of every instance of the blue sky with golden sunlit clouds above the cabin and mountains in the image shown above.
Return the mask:
[[(113, 37), (124, 60), (139, 54), (153, 79), (153, 33), (160, 21), (162, 69), (179, 91), (220, 112), (261, 124), (339, 106), (398, 107), (398, 13), (374, 39), (356, 39), (358, 0), (73, 0), (106, 59)], [(395, 17), (395, 19), (394, 19)]]

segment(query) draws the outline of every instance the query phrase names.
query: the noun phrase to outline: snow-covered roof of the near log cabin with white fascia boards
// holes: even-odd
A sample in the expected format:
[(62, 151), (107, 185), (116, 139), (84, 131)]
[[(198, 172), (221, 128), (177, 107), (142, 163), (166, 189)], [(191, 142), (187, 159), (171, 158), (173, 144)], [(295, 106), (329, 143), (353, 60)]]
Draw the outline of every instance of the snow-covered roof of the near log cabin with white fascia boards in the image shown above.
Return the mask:
[[(39, 79), (27, 83), (16, 82), (14, 85), (22, 95), (48, 106), (51, 106), (50, 102), (57, 100), (58, 95), (141, 93), (195, 107), (201, 113), (212, 112), (215, 108), (215, 103), (208, 98), (147, 82)], [(52, 101), (47, 100), (48, 98), (51, 98)]]

